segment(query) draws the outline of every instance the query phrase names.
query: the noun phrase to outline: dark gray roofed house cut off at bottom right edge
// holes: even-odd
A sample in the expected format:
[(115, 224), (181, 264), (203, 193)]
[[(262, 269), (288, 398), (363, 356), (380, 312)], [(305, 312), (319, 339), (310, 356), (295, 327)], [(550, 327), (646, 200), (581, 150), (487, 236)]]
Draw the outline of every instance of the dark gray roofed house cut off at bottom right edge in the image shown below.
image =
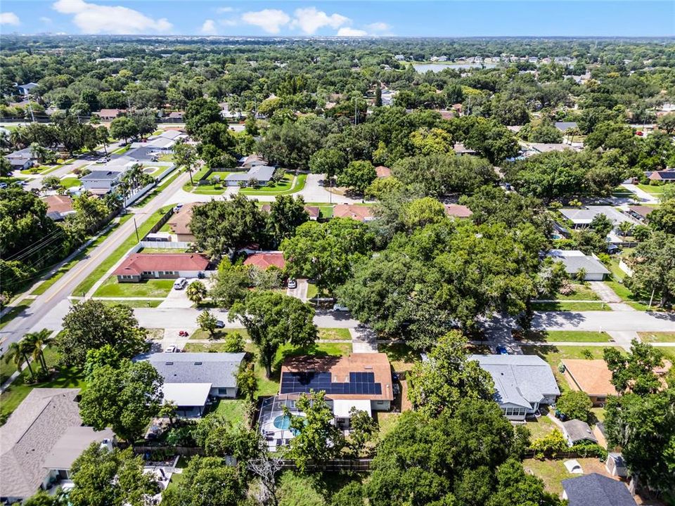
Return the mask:
[(568, 506), (636, 506), (622, 481), (598, 473), (561, 481)]

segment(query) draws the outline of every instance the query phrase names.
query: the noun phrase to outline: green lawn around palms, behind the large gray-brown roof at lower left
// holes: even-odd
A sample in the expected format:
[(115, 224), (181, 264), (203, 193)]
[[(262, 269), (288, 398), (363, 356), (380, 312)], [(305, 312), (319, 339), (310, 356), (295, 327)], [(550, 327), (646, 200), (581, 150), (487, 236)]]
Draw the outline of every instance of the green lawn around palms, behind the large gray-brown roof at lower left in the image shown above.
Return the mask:
[[(58, 361), (58, 351), (46, 349), (44, 351), (47, 365), (53, 366)], [(6, 417), (11, 415), (19, 406), (21, 401), (26, 398), (34, 388), (82, 388), (84, 387), (84, 376), (82, 371), (77, 368), (56, 368), (51, 380), (44, 383), (25, 384), (25, 377), (29, 377), (30, 372), (25, 369), (12, 382), (12, 384), (2, 394), (0, 394), (0, 422), (4, 423)]]

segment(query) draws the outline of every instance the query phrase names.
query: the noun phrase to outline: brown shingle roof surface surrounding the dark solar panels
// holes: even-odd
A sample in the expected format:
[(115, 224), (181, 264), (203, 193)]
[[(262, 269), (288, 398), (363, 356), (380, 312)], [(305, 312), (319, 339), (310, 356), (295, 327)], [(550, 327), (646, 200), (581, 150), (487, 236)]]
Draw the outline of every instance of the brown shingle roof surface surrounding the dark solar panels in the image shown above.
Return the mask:
[(329, 394), (332, 399), (364, 399), (393, 401), (392, 367), (386, 353), (352, 353), (346, 357), (297, 356), (287, 358), (281, 376), (289, 372), (330, 372), (333, 382), (349, 382), (349, 372), (373, 372), (375, 383), (382, 385), (382, 394)]

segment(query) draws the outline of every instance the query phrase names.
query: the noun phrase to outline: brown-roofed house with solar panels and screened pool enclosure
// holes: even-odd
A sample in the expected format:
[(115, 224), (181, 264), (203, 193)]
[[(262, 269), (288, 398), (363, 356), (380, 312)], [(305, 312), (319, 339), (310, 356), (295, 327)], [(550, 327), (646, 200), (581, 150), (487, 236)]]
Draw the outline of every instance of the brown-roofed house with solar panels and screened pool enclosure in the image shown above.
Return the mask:
[(326, 392), (335, 424), (347, 431), (352, 409), (368, 415), (390, 410), (394, 390), (389, 359), (385, 353), (352, 353), (347, 357), (300, 356), (284, 361), (279, 394), (263, 401), (258, 419), (271, 450), (288, 445), (295, 437), (286, 413), (302, 416), (295, 402), (310, 391)]

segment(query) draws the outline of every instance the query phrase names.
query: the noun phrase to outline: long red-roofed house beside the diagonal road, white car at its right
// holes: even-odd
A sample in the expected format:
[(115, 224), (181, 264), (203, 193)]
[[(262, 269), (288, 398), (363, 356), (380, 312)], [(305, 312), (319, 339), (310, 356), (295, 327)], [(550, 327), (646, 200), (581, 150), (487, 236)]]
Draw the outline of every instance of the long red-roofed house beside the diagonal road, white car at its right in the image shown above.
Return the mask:
[(146, 279), (197, 278), (206, 271), (209, 259), (198, 253), (133, 253), (113, 275), (117, 283), (139, 283)]

